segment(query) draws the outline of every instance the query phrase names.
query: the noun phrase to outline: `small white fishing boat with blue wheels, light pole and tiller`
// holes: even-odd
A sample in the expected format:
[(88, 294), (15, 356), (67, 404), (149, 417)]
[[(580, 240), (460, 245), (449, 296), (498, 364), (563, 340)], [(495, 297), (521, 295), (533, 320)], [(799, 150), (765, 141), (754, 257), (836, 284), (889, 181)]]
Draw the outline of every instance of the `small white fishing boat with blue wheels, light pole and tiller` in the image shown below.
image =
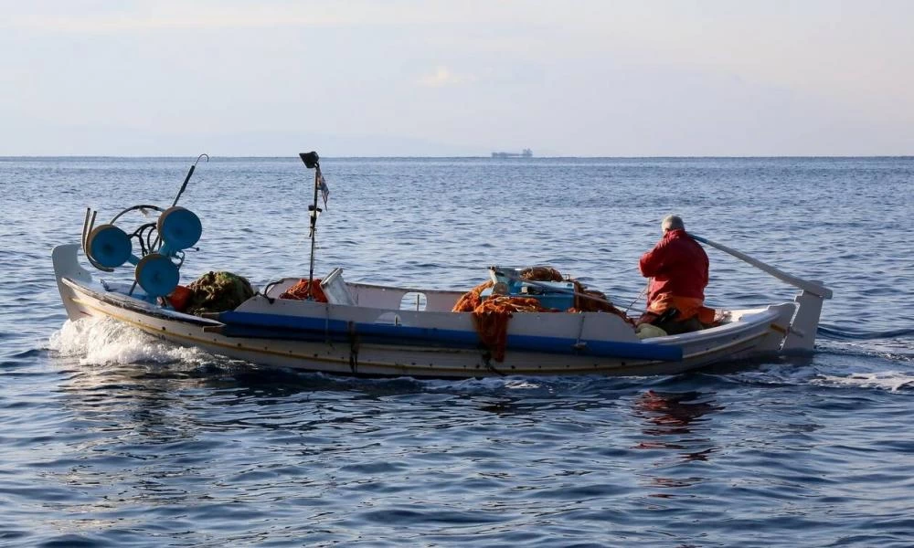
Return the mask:
[[(467, 294), (465, 290), (353, 283), (345, 281), (342, 269), (315, 278), (314, 241), (321, 211), (318, 193), (324, 193), (325, 199), (327, 191), (317, 154), (301, 157), (315, 170), (307, 278), (276, 279), (228, 310), (191, 314), (175, 307), (171, 297), (182, 288), (178, 281), (184, 251), (195, 246), (202, 234), (198, 217), (177, 206), (195, 163), (171, 207), (134, 205), (99, 226), (95, 226), (98, 212), (87, 210), (81, 243), (53, 249), (58, 290), (69, 319), (110, 318), (208, 353), (328, 374), (427, 378), (649, 375), (677, 374), (752, 356), (810, 352), (823, 301), (832, 295), (818, 281), (793, 277), (693, 235), (791, 284), (799, 294), (792, 301), (762, 308), (718, 310), (719, 321), (708, 329), (640, 338), (632, 321), (621, 314), (563, 311), (575, 299), (592, 298), (568, 280), (524, 279), (521, 269), (494, 266), (488, 268), (491, 287), (480, 299), (516, 296), (542, 305), (537, 311), (508, 314), (495, 348), (491, 337), (481, 332), (476, 312), (454, 311), (455, 303)], [(141, 208), (158, 211), (156, 221), (129, 235), (117, 226), (125, 214)], [(134, 253), (136, 248), (139, 255)], [(112, 272), (128, 263), (134, 268), (130, 282), (95, 279), (86, 268)], [(283, 298), (305, 281), (303, 298)]]

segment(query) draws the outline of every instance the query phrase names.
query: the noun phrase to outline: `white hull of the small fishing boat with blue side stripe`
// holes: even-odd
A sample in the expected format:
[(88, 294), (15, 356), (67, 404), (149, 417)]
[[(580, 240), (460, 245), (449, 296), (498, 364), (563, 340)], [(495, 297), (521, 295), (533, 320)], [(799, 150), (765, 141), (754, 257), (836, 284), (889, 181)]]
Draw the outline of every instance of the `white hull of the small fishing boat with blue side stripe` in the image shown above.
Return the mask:
[[(233, 333), (232, 325), (227, 327), (225, 321), (166, 310), (102, 287), (80, 267), (78, 249), (58, 246), (53, 254), (58, 289), (71, 320), (112, 318), (209, 353), (329, 374), (434, 378), (677, 374), (707, 364), (778, 353), (801, 308), (799, 302), (787, 302), (731, 311), (732, 321), (720, 327), (644, 342), (612, 314), (515, 313), (508, 325), (505, 359), (496, 362), (479, 344), (467, 342), (475, 333), (469, 313), (401, 310), (400, 301), (412, 290), (351, 284), (356, 306), (258, 295), (232, 312), (234, 316), (225, 317), (267, 323), (244, 323), (240, 333)], [(268, 294), (276, 295), (281, 289), (273, 288)], [(423, 294), (429, 308), (435, 308), (439, 300), (452, 303), (454, 295), (459, 295), (447, 291)], [(303, 321), (312, 325), (308, 331), (298, 325)], [(315, 322), (325, 323), (326, 330), (315, 329)], [(334, 327), (340, 325), (348, 328)], [(246, 330), (254, 334), (245, 334)], [(257, 336), (259, 332), (269, 336)], [(676, 357), (671, 358), (671, 353)], [(664, 357), (656, 357), (661, 355)]]

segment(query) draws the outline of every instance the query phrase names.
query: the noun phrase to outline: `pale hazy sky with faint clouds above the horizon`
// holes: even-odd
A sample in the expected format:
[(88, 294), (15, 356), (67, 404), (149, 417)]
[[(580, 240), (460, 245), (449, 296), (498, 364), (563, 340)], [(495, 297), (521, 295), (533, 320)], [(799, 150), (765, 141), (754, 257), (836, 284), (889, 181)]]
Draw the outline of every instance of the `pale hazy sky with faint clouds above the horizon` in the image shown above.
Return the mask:
[(903, 0), (0, 13), (0, 155), (914, 154)]

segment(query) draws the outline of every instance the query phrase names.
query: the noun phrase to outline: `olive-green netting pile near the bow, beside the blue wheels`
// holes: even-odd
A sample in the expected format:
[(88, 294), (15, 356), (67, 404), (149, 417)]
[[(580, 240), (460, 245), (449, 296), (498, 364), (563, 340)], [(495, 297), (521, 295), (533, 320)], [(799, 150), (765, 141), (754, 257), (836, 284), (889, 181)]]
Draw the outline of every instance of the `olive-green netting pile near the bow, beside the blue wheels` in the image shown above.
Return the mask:
[(178, 286), (168, 302), (176, 311), (199, 316), (234, 310), (253, 296), (248, 279), (231, 272), (207, 272), (187, 287)]

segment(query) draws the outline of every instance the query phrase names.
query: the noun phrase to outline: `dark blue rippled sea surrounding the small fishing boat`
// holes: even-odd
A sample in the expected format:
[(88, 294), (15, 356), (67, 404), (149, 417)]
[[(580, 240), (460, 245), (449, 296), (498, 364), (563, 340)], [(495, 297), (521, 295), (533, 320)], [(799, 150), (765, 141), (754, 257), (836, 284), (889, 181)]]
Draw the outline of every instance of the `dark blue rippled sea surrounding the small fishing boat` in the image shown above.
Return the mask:
[[(197, 166), (184, 282), (307, 275), (297, 152)], [(468, 381), (67, 321), (51, 248), (88, 206), (171, 205), (193, 162), (0, 159), (0, 546), (914, 546), (914, 158), (323, 159), (319, 276), (468, 290), (548, 264), (627, 308), (677, 213), (834, 290), (807, 356)], [(792, 299), (708, 255), (710, 305)]]

